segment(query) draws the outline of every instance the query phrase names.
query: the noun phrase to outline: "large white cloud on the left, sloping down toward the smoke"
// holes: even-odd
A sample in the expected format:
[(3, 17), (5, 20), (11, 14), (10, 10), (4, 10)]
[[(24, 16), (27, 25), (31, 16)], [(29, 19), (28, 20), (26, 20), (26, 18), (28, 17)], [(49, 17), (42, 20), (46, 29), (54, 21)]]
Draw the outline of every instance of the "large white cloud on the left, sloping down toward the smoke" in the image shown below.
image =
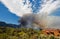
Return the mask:
[(27, 13), (32, 13), (31, 5), (26, 0), (26, 5), (23, 4), (24, 0), (1, 0), (1, 2), (17, 16), (22, 16)]

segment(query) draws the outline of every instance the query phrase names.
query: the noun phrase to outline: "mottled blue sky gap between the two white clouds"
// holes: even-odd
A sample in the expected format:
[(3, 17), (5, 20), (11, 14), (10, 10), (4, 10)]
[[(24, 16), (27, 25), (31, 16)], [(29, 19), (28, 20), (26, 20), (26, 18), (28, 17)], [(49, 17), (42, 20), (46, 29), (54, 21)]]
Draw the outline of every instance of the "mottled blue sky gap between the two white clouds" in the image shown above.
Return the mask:
[(30, 3), (32, 3), (31, 8), (33, 9), (34, 13), (37, 13), (39, 11), (39, 7), (41, 5), (41, 0), (30, 0)]

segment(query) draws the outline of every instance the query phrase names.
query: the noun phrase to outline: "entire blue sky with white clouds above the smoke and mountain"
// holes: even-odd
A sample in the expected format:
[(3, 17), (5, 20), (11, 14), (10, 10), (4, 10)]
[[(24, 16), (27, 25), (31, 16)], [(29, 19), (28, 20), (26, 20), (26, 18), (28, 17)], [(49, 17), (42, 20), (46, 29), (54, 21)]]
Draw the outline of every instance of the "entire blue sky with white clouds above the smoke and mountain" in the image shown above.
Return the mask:
[(60, 19), (60, 0), (1, 0), (0, 2), (0, 21), (18, 24), (19, 17), (27, 13), (47, 13), (50, 15), (49, 20), (54, 20), (56, 17), (55, 23), (60, 23), (58, 21)]

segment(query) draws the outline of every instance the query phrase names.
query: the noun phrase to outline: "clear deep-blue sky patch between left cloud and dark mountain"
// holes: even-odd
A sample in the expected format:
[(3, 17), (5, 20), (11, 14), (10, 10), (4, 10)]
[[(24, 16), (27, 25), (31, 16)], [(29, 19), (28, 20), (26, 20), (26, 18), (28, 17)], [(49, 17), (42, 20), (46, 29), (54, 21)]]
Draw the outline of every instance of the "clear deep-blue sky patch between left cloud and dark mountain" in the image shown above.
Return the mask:
[(0, 21), (18, 24), (18, 19), (18, 16), (8, 11), (8, 9), (0, 2)]

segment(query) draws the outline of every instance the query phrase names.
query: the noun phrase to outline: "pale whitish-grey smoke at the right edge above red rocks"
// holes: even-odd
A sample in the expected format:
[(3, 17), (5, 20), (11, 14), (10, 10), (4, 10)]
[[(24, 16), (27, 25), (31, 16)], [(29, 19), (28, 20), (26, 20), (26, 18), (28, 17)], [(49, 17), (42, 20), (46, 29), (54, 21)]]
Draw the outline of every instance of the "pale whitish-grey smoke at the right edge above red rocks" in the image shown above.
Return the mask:
[(48, 28), (60, 29), (60, 16), (48, 16), (47, 18)]

